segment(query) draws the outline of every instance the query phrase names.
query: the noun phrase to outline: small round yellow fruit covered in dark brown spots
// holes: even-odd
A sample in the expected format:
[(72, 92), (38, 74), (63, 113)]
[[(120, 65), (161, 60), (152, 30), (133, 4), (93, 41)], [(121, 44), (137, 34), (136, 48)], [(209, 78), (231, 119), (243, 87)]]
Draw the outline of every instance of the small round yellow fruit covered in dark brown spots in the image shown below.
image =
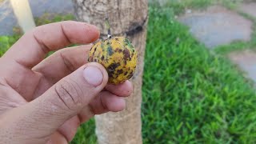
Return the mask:
[(127, 38), (116, 37), (97, 42), (90, 49), (88, 61), (102, 64), (109, 74), (109, 83), (119, 84), (133, 76), (137, 57)]

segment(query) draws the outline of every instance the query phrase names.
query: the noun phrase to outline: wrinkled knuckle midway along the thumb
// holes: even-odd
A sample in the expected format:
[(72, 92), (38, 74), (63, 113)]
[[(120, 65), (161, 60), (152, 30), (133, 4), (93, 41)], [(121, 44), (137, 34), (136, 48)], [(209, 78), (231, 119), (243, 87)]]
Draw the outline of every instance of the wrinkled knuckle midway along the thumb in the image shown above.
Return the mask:
[(64, 106), (70, 110), (82, 104), (82, 90), (78, 83), (70, 81), (62, 81), (55, 86), (55, 92)]

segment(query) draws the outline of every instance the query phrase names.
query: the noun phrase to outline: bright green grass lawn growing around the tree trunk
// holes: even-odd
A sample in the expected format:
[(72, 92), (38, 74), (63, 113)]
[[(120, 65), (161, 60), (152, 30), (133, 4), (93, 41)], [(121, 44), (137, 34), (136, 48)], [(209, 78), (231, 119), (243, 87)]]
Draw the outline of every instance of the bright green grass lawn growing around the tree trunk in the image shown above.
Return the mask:
[[(255, 143), (252, 83), (222, 55), (198, 43), (174, 13), (170, 8), (150, 7), (142, 87), (143, 143)], [(0, 54), (18, 37), (0, 37)], [(92, 119), (71, 143), (95, 142)]]

